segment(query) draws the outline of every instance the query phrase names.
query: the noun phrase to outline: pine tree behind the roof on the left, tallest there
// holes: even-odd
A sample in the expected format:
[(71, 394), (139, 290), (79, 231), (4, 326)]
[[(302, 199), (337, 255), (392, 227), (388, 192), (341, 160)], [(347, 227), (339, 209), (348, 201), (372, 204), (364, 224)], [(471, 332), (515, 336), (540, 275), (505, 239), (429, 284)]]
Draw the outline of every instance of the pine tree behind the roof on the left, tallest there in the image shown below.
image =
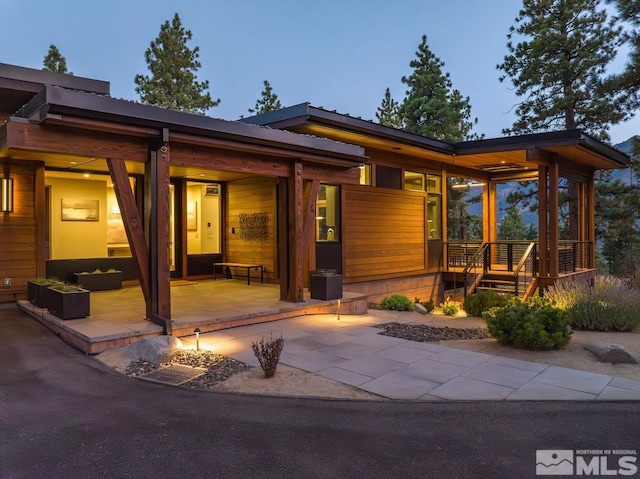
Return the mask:
[(144, 54), (151, 76), (136, 75), (134, 80), (140, 101), (200, 114), (220, 103), (207, 91), (209, 82), (196, 79), (196, 71), (202, 65), (199, 47), (187, 46), (191, 38), (191, 31), (184, 29), (177, 13), (171, 22), (162, 24), (158, 37)]

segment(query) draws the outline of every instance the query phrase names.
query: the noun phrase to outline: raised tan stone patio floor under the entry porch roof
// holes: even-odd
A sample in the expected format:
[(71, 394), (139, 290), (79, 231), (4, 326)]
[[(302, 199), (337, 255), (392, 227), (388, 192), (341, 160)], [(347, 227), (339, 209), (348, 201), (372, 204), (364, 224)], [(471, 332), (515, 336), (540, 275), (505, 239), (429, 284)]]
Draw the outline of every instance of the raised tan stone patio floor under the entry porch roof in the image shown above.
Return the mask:
[[(364, 314), (367, 297), (344, 292), (340, 300), (309, 298), (292, 303), (279, 299), (277, 284), (259, 282), (250, 286), (244, 280), (174, 281), (171, 286), (172, 329), (174, 336), (193, 336), (201, 332), (277, 321), (307, 314)], [(126, 346), (145, 336), (160, 336), (164, 327), (145, 319), (145, 301), (138, 286), (91, 293), (91, 315), (61, 320), (28, 301), (18, 306), (62, 339), (87, 354)]]

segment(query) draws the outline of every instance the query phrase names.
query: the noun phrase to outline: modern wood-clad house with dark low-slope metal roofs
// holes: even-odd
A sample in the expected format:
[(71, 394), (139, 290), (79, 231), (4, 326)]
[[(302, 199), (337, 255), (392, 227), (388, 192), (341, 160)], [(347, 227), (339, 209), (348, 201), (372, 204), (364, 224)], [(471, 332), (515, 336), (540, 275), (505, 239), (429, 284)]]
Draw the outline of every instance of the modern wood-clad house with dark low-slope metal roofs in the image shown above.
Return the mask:
[[(628, 163), (580, 131), (452, 144), (308, 104), (224, 121), (5, 64), (0, 122), (12, 194), (0, 212), (0, 301), (23, 299), (35, 277), (113, 267), (140, 285), (147, 317), (168, 333), (170, 279), (211, 278), (214, 262), (262, 265), (291, 302), (305, 300), (318, 269), (373, 299), (442, 299), (461, 278), (470, 291), (498, 263), (511, 276), (524, 269), (521, 294), (565, 274), (567, 257), (571, 273), (592, 274), (594, 173)], [(477, 244), (447, 239), (450, 176), (484, 184)], [(572, 199), (567, 244), (561, 178)], [(538, 183), (533, 246), (497, 241), (496, 185), (515, 180)]]

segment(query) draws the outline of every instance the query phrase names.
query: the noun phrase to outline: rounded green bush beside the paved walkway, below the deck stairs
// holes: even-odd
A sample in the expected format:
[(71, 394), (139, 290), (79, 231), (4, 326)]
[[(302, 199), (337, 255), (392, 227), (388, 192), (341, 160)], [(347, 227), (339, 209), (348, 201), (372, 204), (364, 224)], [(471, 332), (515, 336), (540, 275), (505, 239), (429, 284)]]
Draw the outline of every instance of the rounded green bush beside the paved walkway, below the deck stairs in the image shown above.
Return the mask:
[(482, 313), (489, 334), (500, 344), (523, 349), (559, 349), (571, 339), (569, 314), (547, 298), (533, 297), (522, 303), (510, 300), (502, 308)]

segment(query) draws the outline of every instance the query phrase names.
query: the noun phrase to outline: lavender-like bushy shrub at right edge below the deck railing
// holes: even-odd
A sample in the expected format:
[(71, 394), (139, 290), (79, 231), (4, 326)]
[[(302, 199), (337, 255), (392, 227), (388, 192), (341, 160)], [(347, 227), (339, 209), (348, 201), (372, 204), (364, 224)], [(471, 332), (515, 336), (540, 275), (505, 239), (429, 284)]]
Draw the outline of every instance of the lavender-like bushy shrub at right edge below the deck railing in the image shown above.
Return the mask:
[(597, 276), (593, 286), (589, 279), (563, 278), (545, 296), (569, 313), (576, 329), (633, 331), (640, 323), (640, 291), (614, 276)]

